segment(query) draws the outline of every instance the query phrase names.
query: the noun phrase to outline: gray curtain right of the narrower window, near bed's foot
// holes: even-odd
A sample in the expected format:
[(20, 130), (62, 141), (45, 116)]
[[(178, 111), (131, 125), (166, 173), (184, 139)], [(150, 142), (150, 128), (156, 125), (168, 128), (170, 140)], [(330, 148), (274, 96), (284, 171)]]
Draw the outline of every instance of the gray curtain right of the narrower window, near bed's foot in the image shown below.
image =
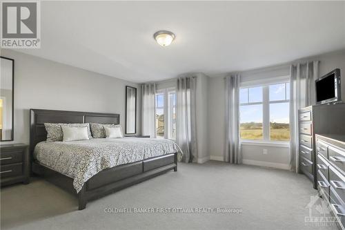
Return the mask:
[(197, 77), (179, 77), (176, 90), (176, 142), (184, 152), (182, 161), (197, 161)]

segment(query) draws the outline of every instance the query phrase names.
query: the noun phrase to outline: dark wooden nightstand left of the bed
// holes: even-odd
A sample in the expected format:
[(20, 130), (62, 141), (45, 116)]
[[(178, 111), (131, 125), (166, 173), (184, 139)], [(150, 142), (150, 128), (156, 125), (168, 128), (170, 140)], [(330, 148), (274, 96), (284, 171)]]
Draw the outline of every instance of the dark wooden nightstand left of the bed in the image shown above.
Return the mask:
[(0, 164), (1, 186), (18, 182), (29, 183), (30, 155), (28, 144), (1, 144)]

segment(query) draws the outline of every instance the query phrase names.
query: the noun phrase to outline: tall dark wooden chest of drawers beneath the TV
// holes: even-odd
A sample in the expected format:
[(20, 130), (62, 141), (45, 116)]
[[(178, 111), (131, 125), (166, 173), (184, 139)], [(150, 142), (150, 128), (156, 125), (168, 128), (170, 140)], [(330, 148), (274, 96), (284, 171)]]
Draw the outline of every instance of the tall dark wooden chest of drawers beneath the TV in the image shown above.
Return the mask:
[(299, 169), (317, 189), (315, 133), (345, 134), (345, 103), (302, 108), (298, 124)]

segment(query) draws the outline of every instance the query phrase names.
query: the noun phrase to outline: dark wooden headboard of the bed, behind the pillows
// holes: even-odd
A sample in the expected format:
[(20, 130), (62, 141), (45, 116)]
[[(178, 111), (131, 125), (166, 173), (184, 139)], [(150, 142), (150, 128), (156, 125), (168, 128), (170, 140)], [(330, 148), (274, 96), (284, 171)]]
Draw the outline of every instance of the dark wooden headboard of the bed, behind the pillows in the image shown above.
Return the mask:
[(76, 111), (51, 111), (30, 109), (30, 152), (37, 143), (47, 139), (44, 123), (100, 123), (119, 124), (120, 115), (116, 113), (88, 113)]

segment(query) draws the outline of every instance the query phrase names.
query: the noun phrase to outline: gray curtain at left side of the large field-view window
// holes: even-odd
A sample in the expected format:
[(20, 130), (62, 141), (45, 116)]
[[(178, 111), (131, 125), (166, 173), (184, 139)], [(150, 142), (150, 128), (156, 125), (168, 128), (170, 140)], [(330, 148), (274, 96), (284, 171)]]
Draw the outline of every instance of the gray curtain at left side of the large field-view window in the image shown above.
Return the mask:
[(239, 74), (225, 78), (225, 124), (226, 140), (224, 161), (242, 164), (239, 138)]

